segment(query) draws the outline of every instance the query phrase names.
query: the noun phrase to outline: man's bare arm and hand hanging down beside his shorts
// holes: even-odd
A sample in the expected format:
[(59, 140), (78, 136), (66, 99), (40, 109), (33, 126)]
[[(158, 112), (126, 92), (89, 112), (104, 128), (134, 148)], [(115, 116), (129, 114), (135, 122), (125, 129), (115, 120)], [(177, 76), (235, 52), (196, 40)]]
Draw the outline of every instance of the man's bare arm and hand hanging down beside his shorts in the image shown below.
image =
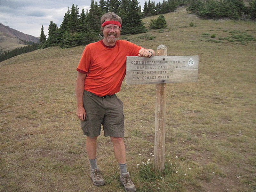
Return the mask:
[(83, 105), (83, 95), (84, 95), (84, 79), (86, 74), (77, 71), (76, 76), (76, 115), (81, 120), (85, 120), (86, 112)]

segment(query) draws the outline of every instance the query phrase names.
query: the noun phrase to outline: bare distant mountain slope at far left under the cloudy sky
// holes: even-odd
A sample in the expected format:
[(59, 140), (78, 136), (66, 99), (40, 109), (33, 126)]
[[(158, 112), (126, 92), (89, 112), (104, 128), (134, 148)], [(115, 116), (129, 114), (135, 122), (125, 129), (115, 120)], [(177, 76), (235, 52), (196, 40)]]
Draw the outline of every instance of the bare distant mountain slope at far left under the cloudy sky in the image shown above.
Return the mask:
[(38, 43), (39, 38), (22, 33), (0, 23), (0, 51), (9, 51), (26, 46), (29, 42)]

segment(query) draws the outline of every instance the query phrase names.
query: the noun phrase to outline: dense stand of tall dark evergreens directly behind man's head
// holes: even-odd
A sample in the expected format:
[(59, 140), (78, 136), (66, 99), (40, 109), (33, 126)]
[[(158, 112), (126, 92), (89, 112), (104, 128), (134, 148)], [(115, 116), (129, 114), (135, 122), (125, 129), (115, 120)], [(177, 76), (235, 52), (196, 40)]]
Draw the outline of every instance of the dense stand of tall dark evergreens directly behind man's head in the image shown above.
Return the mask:
[(41, 28), (41, 47), (60, 46), (62, 48), (86, 45), (102, 39), (100, 31), (100, 17), (107, 12), (115, 12), (122, 18), (122, 35), (145, 33), (148, 29), (143, 25), (142, 18), (151, 15), (173, 12), (186, 0), (163, 0), (155, 4), (154, 1), (145, 1), (143, 12), (137, 0), (100, 0), (99, 3), (91, 1), (90, 9), (82, 8), (79, 13), (78, 6), (72, 4), (65, 13), (63, 22), (58, 28), (53, 21), (48, 28), (48, 38)]

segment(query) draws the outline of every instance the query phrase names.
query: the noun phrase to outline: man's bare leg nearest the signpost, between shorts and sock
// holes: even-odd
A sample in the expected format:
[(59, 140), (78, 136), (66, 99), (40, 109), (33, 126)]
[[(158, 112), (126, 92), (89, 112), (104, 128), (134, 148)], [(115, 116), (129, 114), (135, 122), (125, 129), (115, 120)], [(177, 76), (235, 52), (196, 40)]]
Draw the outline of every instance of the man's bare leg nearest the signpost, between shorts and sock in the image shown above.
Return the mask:
[(116, 160), (119, 164), (125, 164), (125, 147), (124, 147), (124, 140), (122, 137), (110, 137), (114, 147), (114, 153)]

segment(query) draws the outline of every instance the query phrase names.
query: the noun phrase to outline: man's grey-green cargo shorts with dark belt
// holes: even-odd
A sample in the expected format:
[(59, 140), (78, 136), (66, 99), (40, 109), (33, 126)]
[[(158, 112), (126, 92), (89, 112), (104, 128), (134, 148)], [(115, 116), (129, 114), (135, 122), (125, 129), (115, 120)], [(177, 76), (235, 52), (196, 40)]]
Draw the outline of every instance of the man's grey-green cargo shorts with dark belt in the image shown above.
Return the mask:
[(102, 124), (105, 136), (124, 137), (123, 102), (116, 94), (99, 97), (84, 91), (83, 104), (86, 117), (81, 121), (81, 128), (84, 135), (99, 136)]

